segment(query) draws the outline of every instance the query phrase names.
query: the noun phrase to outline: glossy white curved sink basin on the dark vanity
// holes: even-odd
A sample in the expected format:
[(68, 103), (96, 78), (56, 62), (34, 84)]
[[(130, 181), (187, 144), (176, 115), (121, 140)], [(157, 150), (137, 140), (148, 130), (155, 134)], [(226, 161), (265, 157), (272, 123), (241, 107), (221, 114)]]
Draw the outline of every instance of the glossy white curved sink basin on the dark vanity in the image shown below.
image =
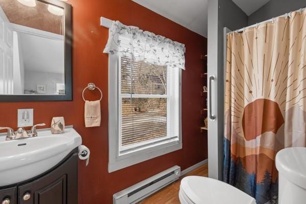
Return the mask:
[(44, 173), (82, 144), (81, 136), (72, 127), (57, 135), (50, 130), (37, 132), (34, 138), (9, 141), (5, 135), (0, 136), (0, 187)]

